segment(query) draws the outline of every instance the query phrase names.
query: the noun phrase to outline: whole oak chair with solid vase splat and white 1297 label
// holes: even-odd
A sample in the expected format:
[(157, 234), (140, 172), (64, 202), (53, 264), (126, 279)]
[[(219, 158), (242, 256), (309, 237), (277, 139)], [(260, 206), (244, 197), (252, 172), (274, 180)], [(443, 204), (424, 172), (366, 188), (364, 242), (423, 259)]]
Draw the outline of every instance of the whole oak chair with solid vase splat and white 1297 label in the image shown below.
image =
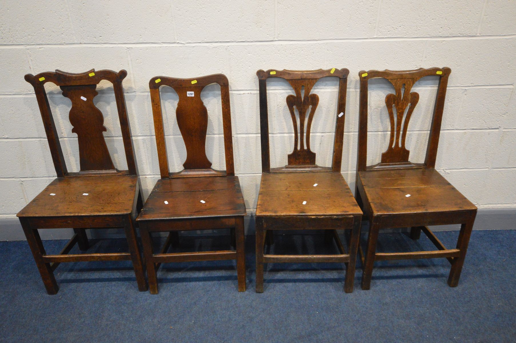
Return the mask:
[[(206, 157), (208, 113), (201, 91), (209, 84), (220, 85), (224, 132), (225, 171), (214, 170)], [(159, 87), (173, 88), (179, 95), (178, 126), (186, 147), (186, 161), (180, 172), (168, 166)], [(238, 291), (246, 290), (244, 217), (246, 206), (235, 176), (228, 78), (214, 74), (197, 78), (153, 77), (149, 81), (161, 179), (158, 180), (137, 222), (147, 264), (150, 292), (158, 293), (156, 271), (164, 262), (236, 259)], [(178, 231), (230, 228), (234, 250), (167, 253), (177, 243)], [(159, 253), (153, 252), (152, 232), (169, 232)]]

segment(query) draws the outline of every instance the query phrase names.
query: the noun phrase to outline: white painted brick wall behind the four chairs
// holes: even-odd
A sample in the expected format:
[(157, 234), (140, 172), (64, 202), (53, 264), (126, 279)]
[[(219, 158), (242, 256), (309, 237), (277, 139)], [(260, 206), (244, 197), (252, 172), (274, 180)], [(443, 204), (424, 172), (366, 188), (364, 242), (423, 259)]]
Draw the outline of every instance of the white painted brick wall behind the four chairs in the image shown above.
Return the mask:
[[(2, 1), (0, 11), (0, 219), (33, 199), (55, 176), (36, 98), (26, 73), (126, 69), (128, 115), (148, 197), (159, 178), (148, 82), (156, 75), (224, 73), (230, 81), (236, 172), (248, 211), (256, 207), (261, 157), (258, 69), (348, 68), (350, 77), (342, 173), (354, 189), (357, 156), (358, 72), (362, 69), (450, 67), (437, 168), (480, 208), (516, 207), (516, 3), (407, 1)], [(368, 163), (386, 148), (389, 120), (381, 80), (371, 81)], [(336, 81), (314, 88), (320, 97), (312, 126), (317, 162), (330, 165)], [(47, 84), (69, 170), (78, 170), (70, 101)], [(409, 125), (411, 159), (425, 155), (436, 78), (419, 81)], [(282, 80), (269, 80), (271, 162), (286, 163), (293, 127)], [(102, 83), (95, 104), (105, 116), (108, 148), (126, 167), (112, 88)], [(162, 99), (171, 171), (185, 147), (175, 121), (178, 96)], [(224, 168), (220, 89), (202, 93), (208, 108), (207, 155)]]

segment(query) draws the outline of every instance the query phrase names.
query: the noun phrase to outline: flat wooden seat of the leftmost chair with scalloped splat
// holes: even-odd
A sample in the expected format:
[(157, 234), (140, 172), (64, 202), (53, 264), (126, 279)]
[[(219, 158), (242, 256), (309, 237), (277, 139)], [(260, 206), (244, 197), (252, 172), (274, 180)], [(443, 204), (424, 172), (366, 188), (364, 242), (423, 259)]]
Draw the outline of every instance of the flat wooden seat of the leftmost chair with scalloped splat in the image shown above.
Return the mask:
[(137, 187), (136, 175), (58, 177), (18, 217), (131, 214)]

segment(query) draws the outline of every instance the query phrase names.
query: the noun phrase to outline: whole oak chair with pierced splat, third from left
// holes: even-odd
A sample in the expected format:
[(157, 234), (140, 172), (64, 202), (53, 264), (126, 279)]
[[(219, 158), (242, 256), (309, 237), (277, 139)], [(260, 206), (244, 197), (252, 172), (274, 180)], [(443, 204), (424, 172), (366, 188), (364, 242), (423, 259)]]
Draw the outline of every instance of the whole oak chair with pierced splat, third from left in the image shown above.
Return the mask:
[[(264, 263), (338, 262), (346, 264), (344, 290), (353, 291), (354, 271), (360, 236), (362, 211), (354, 200), (341, 174), (344, 139), (344, 112), (349, 70), (292, 71), (259, 70), (256, 75), (260, 88), (260, 131), (262, 146), (262, 179), (256, 206), (256, 292), (263, 292)], [(310, 129), (319, 96), (310, 93), (322, 77), (336, 76), (338, 104), (335, 115), (335, 140), (331, 167), (315, 164), (310, 150)], [(286, 104), (294, 125), (294, 150), (284, 167), (270, 168), (269, 124), (267, 110), (267, 79), (280, 77), (288, 81), (296, 95), (288, 95)], [(296, 116), (295, 109), (299, 115)], [(308, 112), (308, 110), (310, 111)], [(308, 112), (308, 113), (307, 113)], [(298, 124), (299, 120), (299, 124)], [(306, 133), (304, 124), (307, 123)], [(299, 127), (299, 134), (298, 134)], [(340, 254), (334, 255), (272, 255), (264, 254), (264, 244), (273, 243), (273, 230), (326, 230), (326, 240), (335, 239)], [(336, 230), (349, 229), (351, 235), (346, 249)]]

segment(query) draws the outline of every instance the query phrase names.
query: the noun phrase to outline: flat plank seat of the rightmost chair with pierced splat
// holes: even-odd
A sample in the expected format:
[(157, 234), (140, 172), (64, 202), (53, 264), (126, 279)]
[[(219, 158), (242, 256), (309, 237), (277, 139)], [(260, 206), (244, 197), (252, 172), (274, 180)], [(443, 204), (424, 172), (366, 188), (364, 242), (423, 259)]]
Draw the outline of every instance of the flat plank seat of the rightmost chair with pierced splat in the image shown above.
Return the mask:
[(476, 210), (435, 169), (363, 171), (358, 178), (373, 216)]

